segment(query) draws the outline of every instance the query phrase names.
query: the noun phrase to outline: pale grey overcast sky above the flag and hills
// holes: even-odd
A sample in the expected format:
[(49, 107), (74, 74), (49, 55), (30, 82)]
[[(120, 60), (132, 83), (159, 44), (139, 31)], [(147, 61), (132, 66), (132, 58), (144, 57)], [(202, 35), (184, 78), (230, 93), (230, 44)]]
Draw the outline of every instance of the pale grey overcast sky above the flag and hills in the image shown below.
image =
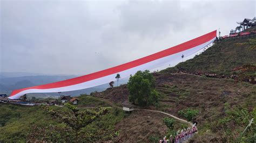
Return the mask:
[(256, 16), (255, 1), (1, 1), (0, 71), (83, 75)]

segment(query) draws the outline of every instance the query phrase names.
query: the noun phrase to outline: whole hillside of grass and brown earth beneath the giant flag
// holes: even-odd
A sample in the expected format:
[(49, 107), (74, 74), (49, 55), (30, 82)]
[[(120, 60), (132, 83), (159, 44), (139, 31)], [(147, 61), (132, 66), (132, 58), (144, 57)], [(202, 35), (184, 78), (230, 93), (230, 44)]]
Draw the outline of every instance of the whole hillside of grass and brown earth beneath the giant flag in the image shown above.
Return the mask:
[[(199, 132), (190, 142), (255, 141), (255, 122), (244, 134), (241, 133), (249, 121), (256, 117), (256, 85), (230, 78), (209, 78), (194, 74), (231, 75), (234, 68), (247, 63), (256, 65), (255, 40), (256, 37), (219, 41), (194, 59), (153, 73), (156, 90), (159, 92), (159, 105), (149, 106), (147, 109), (164, 111), (183, 119), (186, 118), (179, 115), (179, 111), (198, 110), (199, 115), (194, 121), (198, 122)], [(187, 73), (177, 73), (180, 69)], [(166, 135), (167, 127), (163, 123), (165, 115), (143, 110), (124, 113), (120, 108), (128, 97), (126, 84), (78, 97), (79, 108), (112, 107), (107, 115), (83, 130), (89, 132), (90, 137), (97, 137), (90, 141), (158, 142)], [(33, 125), (60, 125), (39, 106), (0, 103), (0, 108), (0, 142), (25, 141), (32, 132)], [(62, 110), (56, 106), (51, 108)], [(176, 120), (174, 130), (181, 130), (185, 126)], [(103, 139), (100, 138), (102, 134), (109, 135)]]

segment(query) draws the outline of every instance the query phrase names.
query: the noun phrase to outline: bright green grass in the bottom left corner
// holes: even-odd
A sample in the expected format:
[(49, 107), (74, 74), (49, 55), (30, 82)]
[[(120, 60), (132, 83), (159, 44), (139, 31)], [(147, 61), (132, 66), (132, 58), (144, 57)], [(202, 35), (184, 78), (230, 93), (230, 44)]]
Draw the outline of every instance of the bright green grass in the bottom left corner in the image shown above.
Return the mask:
[(20, 106), (0, 104), (0, 142), (16, 142), (26, 140), (31, 132), (32, 125), (47, 126), (57, 124), (49, 115), (46, 115), (39, 106)]

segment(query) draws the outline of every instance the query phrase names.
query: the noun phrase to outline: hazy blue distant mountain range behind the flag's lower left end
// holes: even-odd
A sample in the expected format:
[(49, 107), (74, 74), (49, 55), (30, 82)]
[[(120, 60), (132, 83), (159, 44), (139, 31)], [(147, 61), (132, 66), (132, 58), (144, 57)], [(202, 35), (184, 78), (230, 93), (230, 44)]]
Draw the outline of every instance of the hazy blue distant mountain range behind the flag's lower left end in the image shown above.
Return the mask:
[[(37, 73), (0, 73), (0, 94), (11, 94), (12, 90), (32, 87), (35, 85), (41, 85), (46, 83), (52, 83), (62, 80), (67, 80), (69, 78), (77, 77), (78, 75), (43, 75)], [(124, 84), (127, 82), (127, 78), (119, 81), (119, 84)], [(115, 83), (115, 85), (117, 85)], [(43, 93), (43, 94), (28, 94), (29, 97), (36, 98), (47, 98), (47, 97), (59, 97), (60, 95), (71, 95), (78, 96), (80, 94), (90, 94), (94, 91), (103, 91), (109, 88), (109, 83), (99, 85), (97, 87), (68, 91), (62, 93)]]

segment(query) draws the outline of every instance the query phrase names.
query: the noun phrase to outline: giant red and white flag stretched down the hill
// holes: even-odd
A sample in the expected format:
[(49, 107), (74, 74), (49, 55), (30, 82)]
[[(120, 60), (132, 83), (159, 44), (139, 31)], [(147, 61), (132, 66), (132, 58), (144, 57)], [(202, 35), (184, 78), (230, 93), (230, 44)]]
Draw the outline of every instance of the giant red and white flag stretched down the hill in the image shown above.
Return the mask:
[(212, 44), (215, 40), (216, 31), (212, 31), (198, 38), (184, 42), (183, 44), (165, 49), (158, 53), (145, 56), (138, 60), (124, 63), (116, 67), (97, 71), (96, 73), (71, 78), (69, 80), (37, 85), (35, 87), (17, 89), (12, 91), (10, 99), (18, 99), (22, 95), (29, 93), (64, 92), (95, 87), (97, 85), (109, 83), (116, 80), (116, 75), (122, 78), (133, 75), (138, 70), (150, 70), (164, 66), (170, 62), (180, 61), (186, 56), (198, 52), (200, 49)]

